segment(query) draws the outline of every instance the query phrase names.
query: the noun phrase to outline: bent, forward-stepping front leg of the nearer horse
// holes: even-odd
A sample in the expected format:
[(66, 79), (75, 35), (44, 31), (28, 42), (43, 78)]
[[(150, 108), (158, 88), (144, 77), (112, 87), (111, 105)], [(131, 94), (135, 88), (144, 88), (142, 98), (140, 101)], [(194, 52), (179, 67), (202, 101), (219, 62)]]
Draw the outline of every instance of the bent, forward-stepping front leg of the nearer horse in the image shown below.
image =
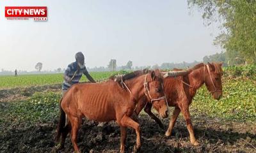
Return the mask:
[(124, 117), (120, 121), (121, 126), (129, 126), (136, 131), (136, 145), (134, 145), (133, 152), (138, 152), (141, 147), (141, 135), (140, 135), (140, 124), (138, 122), (135, 122), (130, 117), (127, 117), (127, 115), (124, 115)]

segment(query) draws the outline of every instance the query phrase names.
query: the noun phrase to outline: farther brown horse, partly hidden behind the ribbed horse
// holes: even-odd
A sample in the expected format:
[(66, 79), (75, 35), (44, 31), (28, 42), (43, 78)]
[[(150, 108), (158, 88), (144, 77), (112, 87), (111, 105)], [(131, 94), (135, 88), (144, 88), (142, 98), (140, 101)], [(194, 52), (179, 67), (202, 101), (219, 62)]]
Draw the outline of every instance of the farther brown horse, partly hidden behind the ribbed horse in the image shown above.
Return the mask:
[[(186, 125), (189, 131), (190, 142), (193, 145), (199, 145), (196, 141), (193, 125), (189, 115), (189, 105), (192, 102), (193, 97), (203, 84), (206, 85), (209, 92), (211, 92), (214, 99), (220, 99), (222, 96), (222, 83), (221, 77), (223, 70), (221, 69), (222, 63), (208, 63), (208, 64), (197, 64), (190, 70), (191, 73), (184, 77), (177, 78), (164, 78), (164, 92), (169, 106), (174, 106), (173, 115), (170, 118), (168, 129), (165, 133), (166, 136), (170, 136), (172, 133), (173, 126), (179, 116), (180, 111), (182, 112)], [(180, 70), (180, 69), (175, 69)], [(138, 115), (143, 109), (146, 101), (140, 102), (136, 107), (135, 113)], [(156, 120), (157, 124), (163, 128), (163, 123), (159, 120), (154, 113), (151, 112), (152, 105), (148, 103), (144, 110), (150, 117)]]

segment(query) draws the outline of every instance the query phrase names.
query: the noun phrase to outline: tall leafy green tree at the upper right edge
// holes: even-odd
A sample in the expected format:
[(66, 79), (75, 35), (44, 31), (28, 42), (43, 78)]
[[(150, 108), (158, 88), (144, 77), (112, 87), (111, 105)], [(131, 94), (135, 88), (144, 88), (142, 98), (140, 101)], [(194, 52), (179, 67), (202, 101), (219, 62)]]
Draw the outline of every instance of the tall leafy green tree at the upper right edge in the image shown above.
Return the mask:
[(256, 62), (256, 0), (188, 0), (203, 11), (207, 25), (220, 20), (222, 32), (214, 43), (225, 48), (230, 64)]

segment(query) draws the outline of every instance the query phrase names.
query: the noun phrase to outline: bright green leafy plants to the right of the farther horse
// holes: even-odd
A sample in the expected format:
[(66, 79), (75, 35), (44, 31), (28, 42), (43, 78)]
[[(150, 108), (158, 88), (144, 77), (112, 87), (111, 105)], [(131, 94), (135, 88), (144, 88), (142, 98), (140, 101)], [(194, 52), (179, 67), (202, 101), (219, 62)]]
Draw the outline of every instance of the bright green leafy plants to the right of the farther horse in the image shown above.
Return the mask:
[(219, 119), (237, 121), (256, 120), (256, 82), (248, 78), (225, 78), (223, 98), (214, 100), (206, 87), (196, 93), (191, 110)]

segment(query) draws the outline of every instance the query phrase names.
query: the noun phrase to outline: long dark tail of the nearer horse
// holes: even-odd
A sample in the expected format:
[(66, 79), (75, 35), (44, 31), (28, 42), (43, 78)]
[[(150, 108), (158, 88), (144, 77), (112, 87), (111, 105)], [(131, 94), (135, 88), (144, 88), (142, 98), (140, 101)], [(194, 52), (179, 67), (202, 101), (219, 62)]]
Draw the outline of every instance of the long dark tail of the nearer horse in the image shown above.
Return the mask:
[(63, 132), (63, 128), (64, 128), (65, 123), (66, 123), (66, 114), (63, 111), (63, 109), (61, 108), (62, 99), (63, 98), (60, 99), (60, 120), (59, 120), (58, 127), (57, 127), (57, 135), (56, 135), (56, 138), (55, 138), (56, 142), (60, 141), (60, 135)]

